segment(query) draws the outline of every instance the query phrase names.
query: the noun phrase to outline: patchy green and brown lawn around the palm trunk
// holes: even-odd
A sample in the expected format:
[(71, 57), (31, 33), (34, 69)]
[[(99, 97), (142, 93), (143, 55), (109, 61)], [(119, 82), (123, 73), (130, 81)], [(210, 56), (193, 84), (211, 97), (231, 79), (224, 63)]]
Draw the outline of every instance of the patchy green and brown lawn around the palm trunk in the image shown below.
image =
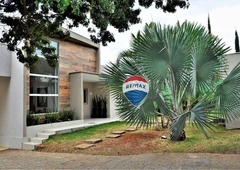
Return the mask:
[[(210, 133), (210, 138), (206, 138), (196, 127), (187, 126), (185, 128), (187, 138), (181, 142), (172, 142), (167, 129), (154, 131), (154, 127), (138, 128), (137, 131), (126, 132), (115, 139), (106, 138), (106, 135), (111, 132), (125, 130), (128, 127), (129, 125), (125, 122), (113, 122), (53, 136), (41, 144), (37, 151), (96, 155), (135, 155), (157, 152), (240, 153), (240, 130), (226, 131), (224, 127), (218, 125), (215, 131)], [(167, 136), (168, 139), (161, 139), (162, 135)], [(103, 141), (88, 149), (74, 149), (74, 146), (91, 138), (100, 138)]]

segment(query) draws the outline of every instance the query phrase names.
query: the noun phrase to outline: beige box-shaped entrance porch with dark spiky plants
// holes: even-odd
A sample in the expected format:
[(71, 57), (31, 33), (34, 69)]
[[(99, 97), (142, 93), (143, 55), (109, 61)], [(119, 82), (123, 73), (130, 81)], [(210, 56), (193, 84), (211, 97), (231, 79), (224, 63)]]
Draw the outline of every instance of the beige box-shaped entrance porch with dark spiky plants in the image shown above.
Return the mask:
[[(98, 74), (70, 74), (70, 107), (75, 110), (77, 119), (108, 117), (105, 113), (108, 110), (106, 93), (100, 87)], [(100, 108), (104, 105), (106, 111), (103, 114)], [(96, 108), (99, 109), (97, 113)]]

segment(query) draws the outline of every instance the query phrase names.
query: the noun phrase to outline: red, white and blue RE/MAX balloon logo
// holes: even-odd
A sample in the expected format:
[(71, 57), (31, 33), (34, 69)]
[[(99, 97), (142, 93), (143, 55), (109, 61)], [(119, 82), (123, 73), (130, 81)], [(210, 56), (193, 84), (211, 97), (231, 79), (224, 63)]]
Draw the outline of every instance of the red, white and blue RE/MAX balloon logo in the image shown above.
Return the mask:
[(142, 76), (130, 76), (123, 82), (123, 94), (134, 106), (144, 102), (149, 92), (147, 80)]

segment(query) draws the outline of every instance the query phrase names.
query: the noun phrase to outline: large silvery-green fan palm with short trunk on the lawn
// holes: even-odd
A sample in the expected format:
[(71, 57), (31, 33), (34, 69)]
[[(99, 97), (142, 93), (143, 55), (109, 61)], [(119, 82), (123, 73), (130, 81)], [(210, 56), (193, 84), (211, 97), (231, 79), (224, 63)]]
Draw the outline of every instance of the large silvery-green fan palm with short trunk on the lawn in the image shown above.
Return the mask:
[[(131, 48), (120, 53), (116, 64), (105, 66), (101, 78), (116, 101), (121, 119), (151, 126), (156, 123), (157, 105), (171, 121), (172, 140), (182, 139), (186, 122), (208, 137), (213, 118), (221, 116), (230, 121), (240, 110), (240, 65), (226, 74), (227, 51), (229, 47), (221, 39), (210, 36), (196, 23), (151, 23), (132, 35)], [(138, 107), (122, 92), (123, 81), (130, 75), (143, 76), (149, 83), (147, 99)]]

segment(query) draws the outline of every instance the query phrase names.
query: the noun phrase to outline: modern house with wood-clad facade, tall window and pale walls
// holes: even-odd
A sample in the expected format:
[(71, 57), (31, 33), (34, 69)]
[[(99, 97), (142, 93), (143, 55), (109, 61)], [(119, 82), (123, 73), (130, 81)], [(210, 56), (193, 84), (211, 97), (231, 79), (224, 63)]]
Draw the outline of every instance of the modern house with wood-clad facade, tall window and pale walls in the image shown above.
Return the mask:
[(18, 61), (14, 52), (0, 44), (2, 146), (22, 149), (22, 143), (32, 135), (26, 124), (28, 114), (72, 109), (76, 120), (91, 119), (92, 99), (96, 95), (106, 97), (105, 117), (117, 118), (110, 95), (99, 88), (100, 45), (74, 32), (70, 32), (67, 40), (50, 40), (60, 56), (59, 66), (55, 69), (48, 66), (40, 51), (37, 51), (39, 62), (28, 69)]

